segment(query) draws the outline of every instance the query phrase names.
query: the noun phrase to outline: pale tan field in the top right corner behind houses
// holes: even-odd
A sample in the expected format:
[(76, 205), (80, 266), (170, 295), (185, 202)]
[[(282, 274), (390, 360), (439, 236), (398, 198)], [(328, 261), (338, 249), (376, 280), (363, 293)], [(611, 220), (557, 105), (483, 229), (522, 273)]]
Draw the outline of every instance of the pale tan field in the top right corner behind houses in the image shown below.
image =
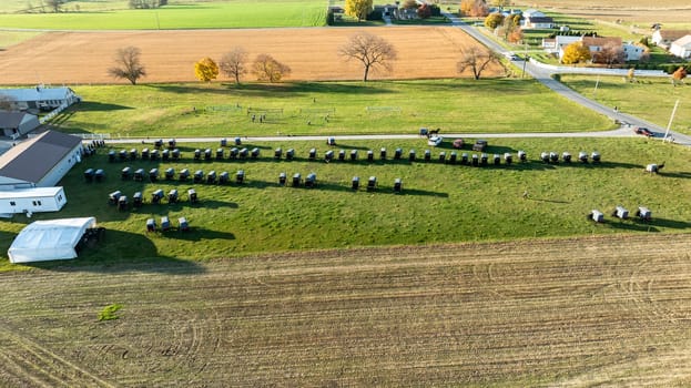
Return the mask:
[(624, 23), (689, 23), (691, 20), (691, 6), (685, 0), (518, 0), (515, 3), (589, 19), (621, 20)]

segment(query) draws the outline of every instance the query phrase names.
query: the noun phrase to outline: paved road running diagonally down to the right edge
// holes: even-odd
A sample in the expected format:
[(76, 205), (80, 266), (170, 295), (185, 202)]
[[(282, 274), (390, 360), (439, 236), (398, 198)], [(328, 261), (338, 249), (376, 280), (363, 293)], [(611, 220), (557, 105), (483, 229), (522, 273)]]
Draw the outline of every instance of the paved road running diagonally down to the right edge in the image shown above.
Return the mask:
[[(488, 47), (490, 50), (496, 51), (502, 55), (509, 55), (512, 54), (512, 52), (506, 50), (504, 47), (501, 47), (499, 43), (497, 43), (496, 41), (494, 41), (492, 39), (486, 37), (484, 33), (481, 33), (480, 31), (478, 31), (478, 29), (471, 27), (470, 24), (461, 21), (459, 18), (455, 17), (451, 13), (445, 13), (447, 18), (449, 18), (451, 20), (453, 25), (456, 25), (460, 29), (463, 29), (467, 34), (469, 34), (470, 37), (475, 38), (477, 41), (479, 41), (480, 43), (485, 44), (486, 47)], [(600, 114), (606, 115), (607, 118), (609, 118), (612, 121), (618, 121), (624, 124), (629, 124), (631, 126), (644, 126), (650, 129), (652, 132), (657, 132), (657, 133), (661, 133), (662, 136), (664, 135), (665, 129), (661, 127), (659, 125), (656, 125), (651, 122), (644, 121), (642, 119), (636, 118), (633, 115), (627, 114), (627, 113), (622, 113), (622, 112), (614, 112), (614, 108), (613, 106), (607, 106), (607, 105), (602, 105), (599, 102), (596, 102), (593, 100), (590, 100), (586, 96), (583, 96), (582, 94), (577, 93), (576, 91), (573, 91), (572, 89), (569, 89), (568, 86), (566, 86), (563, 83), (556, 81), (555, 79), (551, 78), (552, 73), (549, 70), (546, 70), (543, 68), (540, 68), (538, 65), (535, 65), (530, 62), (526, 62), (525, 60), (515, 60), (511, 61), (516, 67), (518, 67), (519, 69), (526, 69), (526, 73), (530, 76), (532, 76), (534, 79), (536, 79), (537, 81), (539, 81), (540, 83), (542, 83), (545, 86), (551, 89), (552, 91), (559, 93), (560, 95), (582, 105), (586, 106), (595, 112), (598, 112)], [(525, 67), (525, 68), (524, 68)], [(684, 144), (684, 145), (690, 145), (691, 146), (691, 136), (684, 135), (684, 134), (680, 134), (680, 133), (674, 133), (674, 132), (670, 132), (669, 134), (670, 139), (673, 139), (673, 141), (675, 143), (679, 144)]]

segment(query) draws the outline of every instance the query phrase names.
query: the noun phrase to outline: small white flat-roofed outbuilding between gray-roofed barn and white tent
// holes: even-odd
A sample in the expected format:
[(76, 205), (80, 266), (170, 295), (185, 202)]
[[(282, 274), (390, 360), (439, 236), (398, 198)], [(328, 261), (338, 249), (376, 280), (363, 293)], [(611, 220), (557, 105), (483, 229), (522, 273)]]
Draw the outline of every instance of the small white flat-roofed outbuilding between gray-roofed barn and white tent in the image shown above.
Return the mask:
[(0, 214), (58, 212), (68, 203), (62, 187), (0, 191)]

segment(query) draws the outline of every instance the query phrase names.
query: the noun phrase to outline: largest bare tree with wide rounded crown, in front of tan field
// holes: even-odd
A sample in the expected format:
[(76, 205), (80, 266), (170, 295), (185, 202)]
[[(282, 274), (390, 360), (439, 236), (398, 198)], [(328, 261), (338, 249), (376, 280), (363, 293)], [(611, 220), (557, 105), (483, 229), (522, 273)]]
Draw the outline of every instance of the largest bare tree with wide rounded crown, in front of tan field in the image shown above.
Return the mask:
[(358, 32), (350, 37), (348, 42), (341, 48), (338, 53), (346, 60), (356, 59), (363, 62), (365, 73), (363, 81), (367, 82), (370, 70), (379, 67), (388, 71), (392, 70), (392, 63), (396, 60), (396, 49), (384, 38), (373, 35), (367, 32)]

